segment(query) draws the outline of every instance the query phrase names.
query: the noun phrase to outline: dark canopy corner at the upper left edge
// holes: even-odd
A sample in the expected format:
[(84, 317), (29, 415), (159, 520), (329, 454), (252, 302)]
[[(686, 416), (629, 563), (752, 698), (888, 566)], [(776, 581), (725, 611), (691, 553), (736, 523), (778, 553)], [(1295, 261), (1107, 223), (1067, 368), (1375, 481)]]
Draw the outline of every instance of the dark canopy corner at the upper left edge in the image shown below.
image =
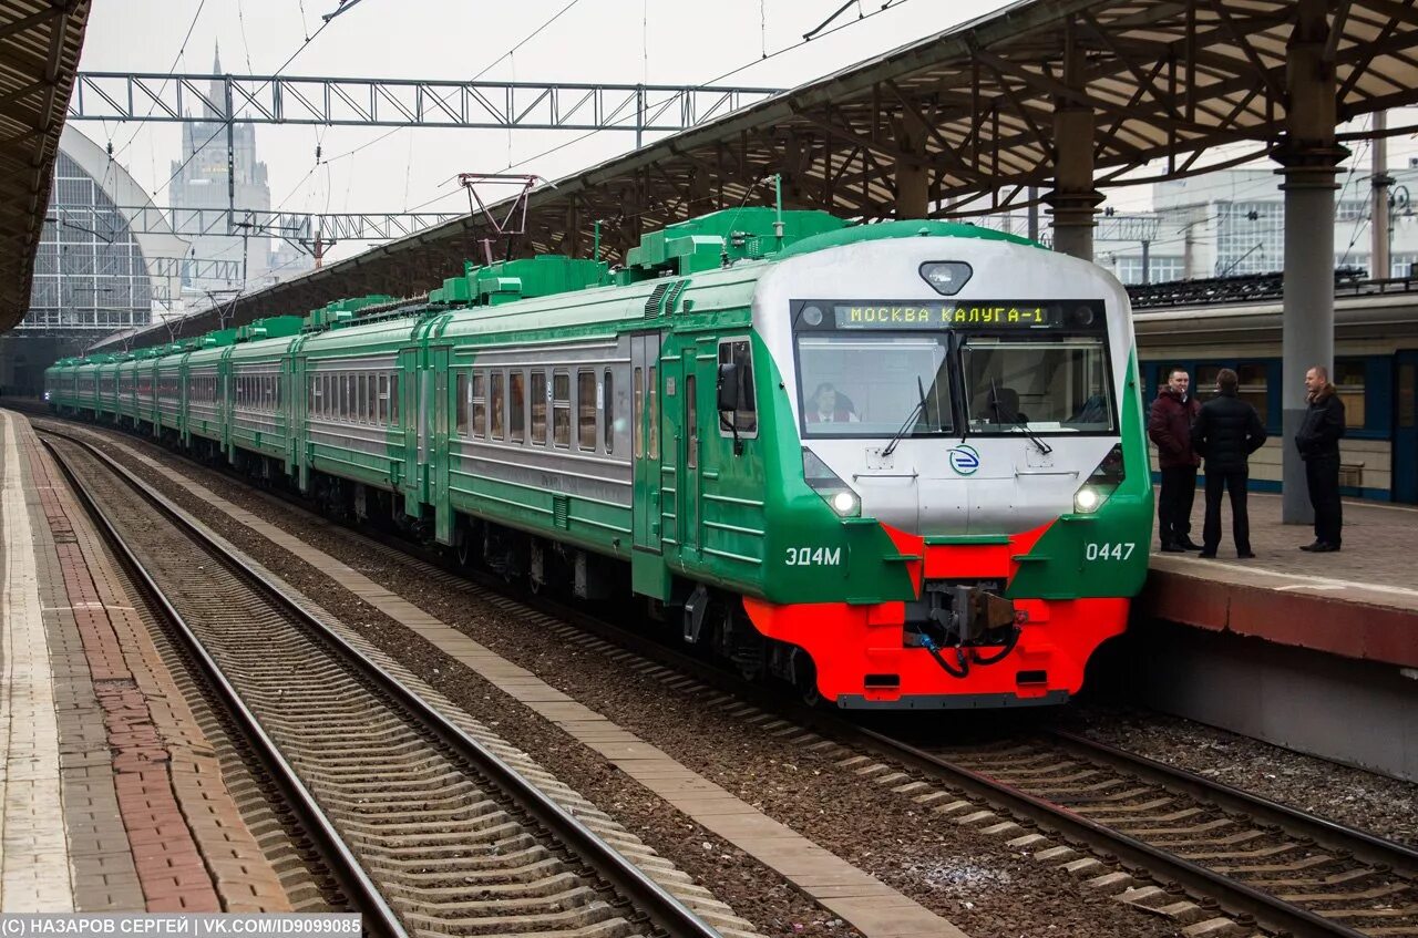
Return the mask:
[(0, 332), (30, 310), (89, 0), (0, 3)]

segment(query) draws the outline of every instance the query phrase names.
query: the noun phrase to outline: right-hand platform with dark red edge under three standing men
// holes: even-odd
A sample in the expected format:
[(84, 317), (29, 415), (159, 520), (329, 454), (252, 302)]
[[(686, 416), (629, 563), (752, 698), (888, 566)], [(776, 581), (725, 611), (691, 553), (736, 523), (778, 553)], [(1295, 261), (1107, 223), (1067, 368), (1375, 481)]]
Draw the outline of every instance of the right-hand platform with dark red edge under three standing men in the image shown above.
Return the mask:
[[(1238, 560), (1231, 509), (1215, 560), (1153, 547), (1136, 615), (1401, 667), (1418, 667), (1418, 509), (1344, 503), (1344, 548), (1310, 554), (1313, 529), (1280, 523), (1280, 497), (1249, 497), (1254, 560)], [(1201, 540), (1197, 493), (1191, 538)]]

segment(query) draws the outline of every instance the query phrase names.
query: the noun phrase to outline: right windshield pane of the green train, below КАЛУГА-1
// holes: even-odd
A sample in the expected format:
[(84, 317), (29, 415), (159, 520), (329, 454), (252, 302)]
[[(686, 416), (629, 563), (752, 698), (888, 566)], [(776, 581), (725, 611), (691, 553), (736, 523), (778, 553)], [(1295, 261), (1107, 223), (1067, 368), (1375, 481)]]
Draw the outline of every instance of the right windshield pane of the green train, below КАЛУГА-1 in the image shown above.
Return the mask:
[(960, 349), (971, 434), (1112, 432), (1102, 337), (967, 337)]

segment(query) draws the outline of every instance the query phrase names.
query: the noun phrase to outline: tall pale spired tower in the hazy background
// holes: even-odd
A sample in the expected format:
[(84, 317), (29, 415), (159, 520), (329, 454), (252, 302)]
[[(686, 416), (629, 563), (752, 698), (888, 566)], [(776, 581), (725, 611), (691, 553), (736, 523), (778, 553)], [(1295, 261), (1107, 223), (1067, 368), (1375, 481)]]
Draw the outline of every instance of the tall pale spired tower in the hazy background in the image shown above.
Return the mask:
[[(213, 75), (221, 75), (221, 51), (214, 51)], [(182, 125), (182, 160), (173, 163), (173, 181), (169, 197), (174, 208), (211, 208), (225, 211), (227, 194), (227, 101), (223, 82), (213, 79), (207, 94), (210, 102), (203, 103), (201, 120)], [(257, 160), (257, 129), (247, 122), (235, 122), (231, 128), (233, 164), (235, 181), (235, 208), (269, 211), (271, 187), (267, 183), (267, 166)], [(218, 231), (225, 231), (224, 225)], [(254, 290), (299, 273), (308, 265), (286, 264), (274, 272), (271, 238), (265, 235), (210, 234), (191, 237), (189, 256), (203, 261), (235, 261), (237, 269), (245, 269), (245, 289)], [(284, 256), (284, 255), (282, 255)], [(274, 273), (274, 276), (272, 276)], [(184, 275), (184, 286), (196, 292), (241, 288), (241, 279), (234, 282), (194, 279)], [(200, 302), (200, 300), (199, 300)]]

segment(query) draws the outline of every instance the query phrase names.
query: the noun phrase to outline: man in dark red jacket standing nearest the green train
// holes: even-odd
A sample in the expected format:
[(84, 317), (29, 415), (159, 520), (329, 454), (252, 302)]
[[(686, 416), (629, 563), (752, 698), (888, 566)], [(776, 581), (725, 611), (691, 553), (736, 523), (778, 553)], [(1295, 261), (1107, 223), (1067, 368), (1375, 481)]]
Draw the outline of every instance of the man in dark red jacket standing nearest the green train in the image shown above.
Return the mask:
[(1191, 397), (1190, 387), (1187, 370), (1173, 368), (1147, 417), (1147, 435), (1157, 443), (1157, 465), (1161, 468), (1157, 527), (1161, 548), (1168, 554), (1201, 550), (1190, 537), (1197, 466), (1201, 465), (1201, 458), (1191, 448), (1191, 424), (1201, 412), (1201, 402)]

